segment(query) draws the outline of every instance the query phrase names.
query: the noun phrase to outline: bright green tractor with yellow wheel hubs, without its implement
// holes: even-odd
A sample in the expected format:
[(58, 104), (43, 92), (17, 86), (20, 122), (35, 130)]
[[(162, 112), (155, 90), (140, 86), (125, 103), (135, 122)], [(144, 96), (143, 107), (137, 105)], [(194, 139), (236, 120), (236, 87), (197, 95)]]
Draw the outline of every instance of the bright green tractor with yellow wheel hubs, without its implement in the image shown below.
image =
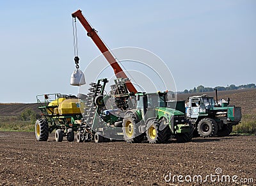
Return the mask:
[[(123, 134), (127, 143), (164, 143), (171, 137), (179, 143), (191, 141), (193, 126), (185, 119), (184, 102), (168, 102), (167, 92), (136, 93), (136, 108), (125, 113)], [(170, 104), (171, 103), (171, 104)]]

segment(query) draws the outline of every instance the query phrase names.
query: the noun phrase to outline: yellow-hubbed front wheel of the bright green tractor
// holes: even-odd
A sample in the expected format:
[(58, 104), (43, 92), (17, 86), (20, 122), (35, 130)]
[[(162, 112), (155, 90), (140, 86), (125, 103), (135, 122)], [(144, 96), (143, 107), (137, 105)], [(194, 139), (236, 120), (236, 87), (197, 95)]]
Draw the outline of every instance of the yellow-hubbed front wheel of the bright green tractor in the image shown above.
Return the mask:
[(170, 138), (170, 128), (167, 126), (159, 130), (160, 123), (156, 120), (150, 120), (147, 123), (147, 139), (149, 143), (164, 143)]

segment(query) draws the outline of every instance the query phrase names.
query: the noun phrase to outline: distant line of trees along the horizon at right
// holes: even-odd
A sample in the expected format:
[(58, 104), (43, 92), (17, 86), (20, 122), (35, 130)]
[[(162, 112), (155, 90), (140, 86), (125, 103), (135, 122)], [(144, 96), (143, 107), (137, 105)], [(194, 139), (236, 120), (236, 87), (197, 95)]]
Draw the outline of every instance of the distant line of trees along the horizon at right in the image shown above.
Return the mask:
[(193, 89), (184, 89), (184, 91), (181, 91), (180, 93), (202, 93), (202, 92), (208, 92), (208, 91), (214, 91), (214, 89), (217, 89), (218, 91), (223, 91), (223, 90), (234, 90), (234, 89), (244, 89), (244, 88), (256, 88), (254, 83), (250, 84), (242, 84), (239, 86), (236, 86), (234, 84), (230, 84), (229, 86), (216, 86), (214, 88), (211, 87), (204, 87), (202, 85), (198, 86), (197, 88)]

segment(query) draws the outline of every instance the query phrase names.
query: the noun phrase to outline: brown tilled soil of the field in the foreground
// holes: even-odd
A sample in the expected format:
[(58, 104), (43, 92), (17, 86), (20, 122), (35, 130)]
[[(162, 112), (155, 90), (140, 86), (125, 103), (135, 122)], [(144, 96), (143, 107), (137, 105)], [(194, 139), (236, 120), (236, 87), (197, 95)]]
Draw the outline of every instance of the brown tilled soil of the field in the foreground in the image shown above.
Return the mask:
[[(57, 143), (33, 132), (0, 132), (0, 185), (256, 185), (256, 136), (190, 143)], [(237, 175), (237, 183), (165, 182), (164, 175)], [(169, 177), (166, 177), (169, 178)], [(253, 178), (241, 183), (240, 178)], [(175, 178), (177, 181), (177, 178)]]

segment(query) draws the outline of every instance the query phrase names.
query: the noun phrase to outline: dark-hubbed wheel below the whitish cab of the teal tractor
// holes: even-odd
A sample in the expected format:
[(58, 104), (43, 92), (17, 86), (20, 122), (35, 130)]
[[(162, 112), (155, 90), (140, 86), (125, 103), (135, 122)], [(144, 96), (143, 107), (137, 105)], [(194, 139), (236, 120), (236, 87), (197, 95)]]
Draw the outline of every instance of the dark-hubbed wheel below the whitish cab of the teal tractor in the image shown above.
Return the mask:
[(218, 132), (218, 125), (216, 121), (211, 118), (204, 118), (199, 121), (197, 126), (198, 133), (202, 137), (216, 136)]

